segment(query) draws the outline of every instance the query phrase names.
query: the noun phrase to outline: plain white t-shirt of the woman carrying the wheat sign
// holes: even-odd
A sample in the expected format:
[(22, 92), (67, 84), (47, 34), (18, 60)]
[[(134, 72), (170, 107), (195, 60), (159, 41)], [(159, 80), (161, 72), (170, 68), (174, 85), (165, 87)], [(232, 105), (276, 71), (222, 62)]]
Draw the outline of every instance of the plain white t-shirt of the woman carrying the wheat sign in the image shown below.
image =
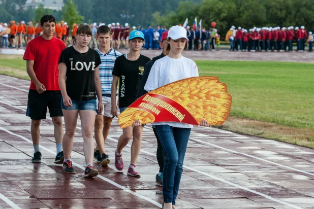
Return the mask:
[[(152, 65), (144, 89), (149, 92), (181, 79), (198, 76), (198, 67), (192, 59), (188, 59), (183, 56), (178, 59), (173, 59), (169, 56), (165, 56), (156, 60)], [(170, 125), (177, 128), (193, 128), (193, 125), (179, 122), (158, 122), (153, 123), (153, 125)]]

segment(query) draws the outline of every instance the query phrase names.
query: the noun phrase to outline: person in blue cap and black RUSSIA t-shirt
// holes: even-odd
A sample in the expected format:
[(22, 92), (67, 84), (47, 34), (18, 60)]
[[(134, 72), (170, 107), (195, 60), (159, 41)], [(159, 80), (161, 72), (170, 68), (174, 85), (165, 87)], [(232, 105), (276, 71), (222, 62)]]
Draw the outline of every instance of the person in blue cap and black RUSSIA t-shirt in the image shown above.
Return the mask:
[[(113, 81), (111, 87), (111, 114), (118, 116), (115, 92), (119, 81), (119, 109), (120, 113), (127, 109), (136, 98), (138, 87), (141, 83), (145, 64), (150, 58), (140, 54), (143, 46), (144, 34), (141, 31), (134, 30), (130, 33), (128, 54), (119, 56), (115, 62), (112, 71)], [(137, 121), (138, 123), (139, 121)], [(119, 137), (117, 149), (115, 151), (114, 165), (118, 170), (123, 170), (122, 149), (128, 144), (132, 135), (133, 142), (131, 146), (131, 164), (128, 169), (128, 175), (140, 177), (136, 171), (136, 161), (141, 150), (143, 127), (123, 128), (122, 135)]]

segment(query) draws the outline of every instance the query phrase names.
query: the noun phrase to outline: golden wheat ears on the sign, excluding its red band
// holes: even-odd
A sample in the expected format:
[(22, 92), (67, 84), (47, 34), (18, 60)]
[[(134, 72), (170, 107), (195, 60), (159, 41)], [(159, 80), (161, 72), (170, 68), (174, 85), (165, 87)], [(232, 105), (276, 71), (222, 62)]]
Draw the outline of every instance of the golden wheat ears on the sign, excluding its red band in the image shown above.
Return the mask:
[[(202, 76), (176, 81), (149, 93), (161, 94), (184, 107), (200, 124), (206, 119), (210, 125), (222, 125), (228, 118), (232, 97), (227, 85), (218, 77)], [(142, 124), (152, 123), (155, 117), (144, 110), (128, 108), (119, 115), (120, 128), (128, 127), (139, 119)]]

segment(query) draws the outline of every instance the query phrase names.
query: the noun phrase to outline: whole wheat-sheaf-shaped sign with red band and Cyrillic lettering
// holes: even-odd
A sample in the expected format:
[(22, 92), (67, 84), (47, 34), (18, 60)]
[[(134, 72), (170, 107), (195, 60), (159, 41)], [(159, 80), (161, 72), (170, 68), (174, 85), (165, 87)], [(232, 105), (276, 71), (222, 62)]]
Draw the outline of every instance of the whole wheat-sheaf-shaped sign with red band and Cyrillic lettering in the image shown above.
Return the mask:
[(134, 121), (181, 122), (222, 125), (228, 118), (232, 97), (218, 77), (201, 76), (179, 80), (141, 96), (118, 117), (120, 128)]

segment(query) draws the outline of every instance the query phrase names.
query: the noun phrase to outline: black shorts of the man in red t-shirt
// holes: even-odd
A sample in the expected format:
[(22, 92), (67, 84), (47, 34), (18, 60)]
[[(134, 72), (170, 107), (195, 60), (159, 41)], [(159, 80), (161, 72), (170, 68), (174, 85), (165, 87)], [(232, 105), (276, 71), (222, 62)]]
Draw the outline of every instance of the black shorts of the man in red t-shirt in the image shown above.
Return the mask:
[(50, 117), (63, 116), (61, 96), (61, 91), (45, 91), (40, 94), (37, 90), (29, 89), (26, 116), (32, 120), (46, 119), (47, 107)]

